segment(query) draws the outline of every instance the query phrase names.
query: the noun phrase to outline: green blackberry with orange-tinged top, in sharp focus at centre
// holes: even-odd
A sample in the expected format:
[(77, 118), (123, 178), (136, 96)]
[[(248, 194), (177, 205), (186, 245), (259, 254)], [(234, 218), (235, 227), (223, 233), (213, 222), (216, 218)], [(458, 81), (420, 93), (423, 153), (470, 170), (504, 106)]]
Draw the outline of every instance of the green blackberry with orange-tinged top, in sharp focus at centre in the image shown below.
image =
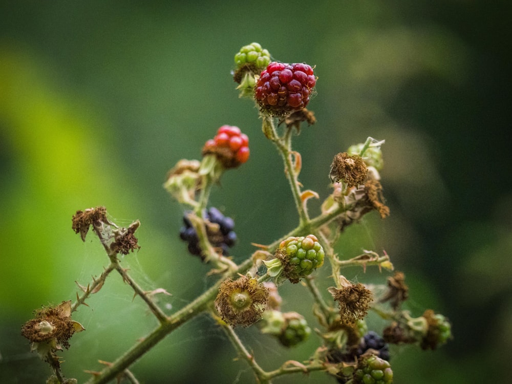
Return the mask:
[(325, 253), (316, 236), (308, 234), (283, 240), (275, 256), (283, 265), (283, 275), (290, 282), (298, 283), (324, 264)]

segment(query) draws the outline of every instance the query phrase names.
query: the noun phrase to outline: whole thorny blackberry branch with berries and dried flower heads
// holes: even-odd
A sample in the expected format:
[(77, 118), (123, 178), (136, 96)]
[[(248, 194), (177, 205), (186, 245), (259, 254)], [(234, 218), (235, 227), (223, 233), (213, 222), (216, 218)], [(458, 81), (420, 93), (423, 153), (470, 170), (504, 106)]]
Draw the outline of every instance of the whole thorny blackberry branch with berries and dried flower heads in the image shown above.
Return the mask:
[[(212, 323), (225, 332), (258, 383), (277, 382), (280, 376), (288, 374), (321, 371), (333, 381), (343, 383), (390, 384), (394, 373), (389, 362), (389, 344), (435, 349), (451, 338), (451, 324), (442, 314), (427, 309), (421, 316), (412, 317), (409, 311), (402, 309), (403, 302), (412, 293), (403, 272), (389, 275), (386, 284), (354, 282), (347, 278), (351, 271), (348, 267), (358, 267), (362, 272), (372, 266), (380, 271), (393, 271), (386, 252), (365, 250), (341, 258), (334, 251), (335, 243), (344, 236), (347, 226), (371, 212), (382, 219), (390, 214), (382, 196), (379, 174), (384, 164), (381, 151), (384, 140), (369, 137), (354, 143), (346, 152), (334, 154), (330, 170), (324, 170), (326, 180), (331, 180), (332, 190), (324, 198), (319, 212), (312, 215), (308, 201), (320, 199), (320, 195), (304, 189), (298, 181), (302, 158), (292, 149), (292, 139), (298, 137), (304, 122), (311, 125), (316, 121), (313, 112), (305, 108), (315, 93), (314, 67), (275, 59), (270, 62), (269, 52), (254, 42), (243, 46), (234, 57), (233, 78), (239, 83), (240, 96), (252, 98), (259, 111), (263, 134), (283, 160), (291, 200), (298, 215), (295, 227), (288, 233), (276, 234), (271, 244), (252, 243), (253, 253), (238, 264), (229, 257), (228, 248), (237, 241), (234, 222), (219, 209), (208, 208), (208, 202), (224, 172), (237, 172), (237, 168), (250, 160), (250, 152), (248, 136), (239, 127), (227, 124), (217, 129), (212, 139), (206, 140), (202, 151), (198, 148), (196, 152), (201, 152), (201, 160), (179, 160), (164, 183), (165, 189), (184, 209), (180, 238), (187, 242), (191, 255), (200, 256), (211, 266), (208, 274), (217, 276), (214, 283), (185, 307), (167, 314), (155, 299), (157, 293), (167, 291), (164, 288), (145, 290), (121, 265), (120, 254), (129, 255), (139, 249), (135, 237), (138, 221), (120, 227), (109, 219), (101, 206), (76, 211), (72, 229), (83, 241), (92, 231), (106, 252), (108, 265), (87, 286), (78, 284), (81, 293), (76, 295), (75, 302), (63, 301), (58, 306), (37, 310), (34, 318), (23, 326), (22, 334), (32, 343), (32, 351), (36, 351), (53, 371), (48, 382), (76, 382), (64, 377), (59, 357), (62, 348), (68, 349), (73, 344), (72, 336), (84, 330), (72, 316), (81, 305), (86, 305), (88, 297), (100, 292), (114, 271), (142, 298), (154, 315), (156, 326), (100, 371), (97, 367), (86, 367), (93, 372), (89, 384), (123, 378), (137, 382), (129, 370), (131, 365), (166, 335), (200, 314), (208, 314)], [(174, 257), (183, 257), (183, 253), (186, 252), (177, 251)], [(323, 275), (329, 277), (320, 277), (323, 275), (317, 270), (321, 267), (322, 270), (328, 268)], [(364, 274), (359, 273), (359, 277), (363, 278)], [(283, 303), (290, 302), (282, 300), (279, 288), (299, 282), (301, 284), (292, 287), (301, 295), (301, 301), (307, 300), (302, 290), (309, 291), (315, 325), (308, 324), (304, 314), (281, 310)], [(368, 332), (366, 317), (370, 312), (387, 323), (381, 332)], [(258, 356), (250, 353), (251, 348), (239, 337), (239, 332), (243, 332), (240, 327), (254, 324), (263, 333), (262, 337), (275, 338), (283, 348), (300, 345), (312, 337), (316, 338), (317, 347), (307, 361), (289, 360), (264, 369)], [(400, 372), (396, 375), (400, 376)]]

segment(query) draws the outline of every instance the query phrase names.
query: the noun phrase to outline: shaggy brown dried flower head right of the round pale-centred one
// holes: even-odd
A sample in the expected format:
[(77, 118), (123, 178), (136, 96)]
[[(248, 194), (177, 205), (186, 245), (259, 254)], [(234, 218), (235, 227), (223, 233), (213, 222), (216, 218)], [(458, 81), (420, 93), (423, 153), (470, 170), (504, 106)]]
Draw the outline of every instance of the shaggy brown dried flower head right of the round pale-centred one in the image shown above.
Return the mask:
[(373, 294), (361, 283), (352, 284), (344, 276), (340, 276), (342, 288), (329, 288), (334, 301), (338, 302), (340, 321), (354, 324), (368, 314)]

